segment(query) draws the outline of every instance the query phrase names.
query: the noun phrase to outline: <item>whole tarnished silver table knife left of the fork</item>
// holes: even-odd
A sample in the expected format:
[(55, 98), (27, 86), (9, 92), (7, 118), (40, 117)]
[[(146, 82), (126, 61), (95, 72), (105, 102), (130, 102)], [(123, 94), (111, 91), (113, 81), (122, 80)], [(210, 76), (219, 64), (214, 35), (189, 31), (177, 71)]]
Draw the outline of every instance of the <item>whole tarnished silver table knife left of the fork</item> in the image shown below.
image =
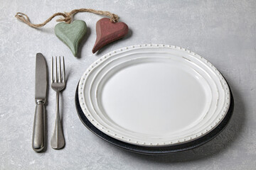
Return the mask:
[(33, 122), (32, 147), (34, 151), (41, 152), (45, 146), (45, 103), (47, 90), (46, 60), (41, 53), (36, 54), (36, 86), (35, 101), (36, 112)]

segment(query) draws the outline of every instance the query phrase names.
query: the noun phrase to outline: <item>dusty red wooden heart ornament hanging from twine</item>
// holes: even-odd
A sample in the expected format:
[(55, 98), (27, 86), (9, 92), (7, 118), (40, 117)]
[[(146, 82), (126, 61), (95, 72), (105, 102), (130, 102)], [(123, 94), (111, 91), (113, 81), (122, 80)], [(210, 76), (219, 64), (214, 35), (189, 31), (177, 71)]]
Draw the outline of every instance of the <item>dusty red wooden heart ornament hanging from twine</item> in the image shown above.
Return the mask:
[(123, 38), (128, 33), (128, 26), (126, 23), (113, 23), (110, 18), (102, 18), (96, 23), (97, 39), (92, 48), (92, 53), (97, 52), (103, 46)]

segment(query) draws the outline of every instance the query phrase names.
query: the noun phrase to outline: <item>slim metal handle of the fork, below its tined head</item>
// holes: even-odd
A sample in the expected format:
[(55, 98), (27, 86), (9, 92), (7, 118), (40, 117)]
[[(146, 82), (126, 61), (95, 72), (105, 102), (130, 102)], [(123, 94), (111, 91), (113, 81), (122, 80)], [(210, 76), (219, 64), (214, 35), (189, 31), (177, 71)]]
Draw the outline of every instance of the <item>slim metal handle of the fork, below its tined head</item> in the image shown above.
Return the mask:
[(60, 123), (60, 112), (59, 112), (59, 94), (60, 91), (56, 91), (56, 118), (55, 127), (53, 131), (53, 137), (50, 140), (50, 146), (53, 149), (61, 149), (65, 146), (65, 138), (63, 135), (63, 128)]

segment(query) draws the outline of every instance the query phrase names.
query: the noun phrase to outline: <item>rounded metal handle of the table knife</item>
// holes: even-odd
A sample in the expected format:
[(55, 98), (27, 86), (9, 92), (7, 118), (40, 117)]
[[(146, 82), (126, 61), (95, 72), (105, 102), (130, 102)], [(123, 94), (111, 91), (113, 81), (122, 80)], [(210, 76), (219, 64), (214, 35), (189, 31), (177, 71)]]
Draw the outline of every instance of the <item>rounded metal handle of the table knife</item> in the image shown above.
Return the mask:
[(45, 140), (45, 106), (43, 101), (36, 101), (36, 112), (33, 122), (32, 147), (34, 151), (41, 152)]

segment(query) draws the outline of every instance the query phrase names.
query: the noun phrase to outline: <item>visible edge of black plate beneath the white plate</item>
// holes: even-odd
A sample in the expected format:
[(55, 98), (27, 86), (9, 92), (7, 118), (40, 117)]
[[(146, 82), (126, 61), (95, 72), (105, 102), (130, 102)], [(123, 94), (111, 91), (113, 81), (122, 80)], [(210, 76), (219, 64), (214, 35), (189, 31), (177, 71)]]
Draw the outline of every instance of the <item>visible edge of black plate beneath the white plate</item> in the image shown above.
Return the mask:
[(82, 121), (82, 123), (86, 126), (86, 128), (88, 128), (90, 131), (92, 131), (95, 135), (102, 138), (103, 140), (110, 142), (112, 145), (140, 154), (169, 154), (174, 152), (185, 151), (188, 149), (193, 149), (195, 147), (199, 147), (203, 144), (206, 144), (206, 142), (209, 142), (210, 140), (213, 140), (213, 138), (216, 137), (226, 127), (226, 125), (228, 125), (231, 115), (233, 114), (234, 99), (232, 92), (230, 90), (230, 108), (228, 109), (228, 113), (225, 115), (225, 118), (223, 118), (221, 123), (216, 128), (208, 132), (207, 135), (204, 135), (203, 137), (200, 137), (191, 142), (183, 143), (180, 145), (172, 145), (168, 147), (143, 147), (132, 145), (126, 142), (122, 142), (120, 140), (116, 140), (113, 137), (110, 137), (109, 135), (106, 135), (104, 132), (98, 130), (94, 125), (92, 125), (92, 123), (90, 123), (90, 121), (86, 118), (85, 114), (82, 112), (82, 108), (80, 107), (78, 101), (78, 87), (75, 91), (75, 106), (78, 111), (79, 118)]

